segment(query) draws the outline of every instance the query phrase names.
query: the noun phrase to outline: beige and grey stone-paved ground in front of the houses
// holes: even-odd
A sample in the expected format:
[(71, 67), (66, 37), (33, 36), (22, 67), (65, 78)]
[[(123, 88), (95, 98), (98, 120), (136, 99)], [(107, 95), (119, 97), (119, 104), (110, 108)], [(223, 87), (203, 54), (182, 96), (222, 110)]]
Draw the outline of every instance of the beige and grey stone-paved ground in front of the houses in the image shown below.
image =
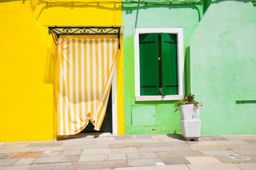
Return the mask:
[(1, 170), (255, 170), (256, 135), (87, 133), (47, 142), (0, 143)]

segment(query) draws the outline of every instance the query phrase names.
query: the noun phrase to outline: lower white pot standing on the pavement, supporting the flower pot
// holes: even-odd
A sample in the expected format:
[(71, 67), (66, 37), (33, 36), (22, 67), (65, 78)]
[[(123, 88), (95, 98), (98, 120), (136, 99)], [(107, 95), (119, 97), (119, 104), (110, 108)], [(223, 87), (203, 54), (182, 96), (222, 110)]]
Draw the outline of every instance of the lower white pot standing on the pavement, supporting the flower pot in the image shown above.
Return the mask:
[(201, 120), (180, 120), (181, 133), (186, 140), (198, 140), (201, 135)]

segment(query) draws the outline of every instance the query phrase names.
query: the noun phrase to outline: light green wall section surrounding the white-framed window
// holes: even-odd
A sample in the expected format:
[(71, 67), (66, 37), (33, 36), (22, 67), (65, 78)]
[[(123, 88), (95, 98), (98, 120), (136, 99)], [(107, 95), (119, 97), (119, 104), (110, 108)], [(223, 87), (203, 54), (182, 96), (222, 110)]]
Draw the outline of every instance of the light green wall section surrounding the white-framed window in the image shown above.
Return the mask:
[[(123, 4), (125, 134), (180, 133), (175, 101), (136, 101), (134, 91), (134, 28), (183, 27), (184, 51), (203, 16), (203, 5)], [(156, 125), (132, 125), (132, 107), (156, 106)], [(142, 116), (141, 119), (144, 117)]]

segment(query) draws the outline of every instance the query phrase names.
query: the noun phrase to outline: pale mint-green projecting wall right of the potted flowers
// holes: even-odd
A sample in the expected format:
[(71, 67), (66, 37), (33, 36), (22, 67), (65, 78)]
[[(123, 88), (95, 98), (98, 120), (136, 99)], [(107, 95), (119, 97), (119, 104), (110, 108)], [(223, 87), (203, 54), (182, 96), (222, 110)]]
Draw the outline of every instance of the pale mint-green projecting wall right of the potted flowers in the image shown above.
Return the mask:
[(189, 44), (190, 89), (201, 135), (255, 134), (256, 8), (250, 0), (212, 1)]

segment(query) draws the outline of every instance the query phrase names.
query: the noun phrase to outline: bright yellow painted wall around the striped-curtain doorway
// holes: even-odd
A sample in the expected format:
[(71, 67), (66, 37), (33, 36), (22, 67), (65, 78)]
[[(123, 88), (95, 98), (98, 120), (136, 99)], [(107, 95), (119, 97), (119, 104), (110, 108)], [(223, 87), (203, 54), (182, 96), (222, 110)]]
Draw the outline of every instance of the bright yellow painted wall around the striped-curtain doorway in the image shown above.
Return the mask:
[[(56, 137), (56, 49), (44, 25), (122, 26), (120, 1), (81, 1), (0, 1), (0, 142)], [(117, 77), (119, 135), (124, 134), (122, 57), (121, 49)]]

